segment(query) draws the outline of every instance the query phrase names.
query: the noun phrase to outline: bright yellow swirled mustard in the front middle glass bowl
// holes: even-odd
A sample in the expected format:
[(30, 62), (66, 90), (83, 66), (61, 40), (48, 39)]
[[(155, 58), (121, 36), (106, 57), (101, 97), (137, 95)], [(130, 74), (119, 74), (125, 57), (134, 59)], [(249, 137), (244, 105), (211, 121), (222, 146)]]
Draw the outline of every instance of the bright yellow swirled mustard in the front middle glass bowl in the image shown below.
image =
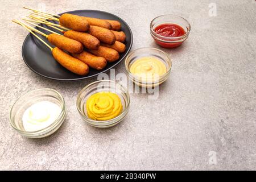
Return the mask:
[(122, 109), (121, 99), (112, 92), (95, 93), (86, 101), (88, 117), (98, 121), (113, 119), (122, 113)]

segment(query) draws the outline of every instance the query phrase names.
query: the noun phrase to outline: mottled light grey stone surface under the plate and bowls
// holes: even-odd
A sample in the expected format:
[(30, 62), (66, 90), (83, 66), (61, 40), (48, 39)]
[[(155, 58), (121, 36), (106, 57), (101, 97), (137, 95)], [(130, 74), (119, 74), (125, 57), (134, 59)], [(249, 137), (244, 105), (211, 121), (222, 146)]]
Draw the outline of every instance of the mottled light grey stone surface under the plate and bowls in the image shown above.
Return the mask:
[[(217, 16), (209, 16), (216, 3)], [(26, 30), (11, 19), (22, 9), (46, 5), (49, 13), (96, 9), (120, 16), (134, 35), (132, 49), (156, 47), (149, 24), (176, 14), (192, 26), (183, 46), (164, 49), (172, 59), (170, 78), (158, 100), (131, 94), (126, 119), (110, 129), (82, 121), (81, 82), (46, 80), (22, 60)], [(6, 1), (0, 6), (0, 169), (256, 169), (256, 2), (250, 1)], [(125, 72), (124, 63), (116, 73)], [(63, 126), (43, 139), (21, 137), (9, 123), (14, 101), (38, 88), (63, 94)], [(210, 152), (213, 151), (213, 152)], [(216, 154), (216, 164), (209, 163)]]

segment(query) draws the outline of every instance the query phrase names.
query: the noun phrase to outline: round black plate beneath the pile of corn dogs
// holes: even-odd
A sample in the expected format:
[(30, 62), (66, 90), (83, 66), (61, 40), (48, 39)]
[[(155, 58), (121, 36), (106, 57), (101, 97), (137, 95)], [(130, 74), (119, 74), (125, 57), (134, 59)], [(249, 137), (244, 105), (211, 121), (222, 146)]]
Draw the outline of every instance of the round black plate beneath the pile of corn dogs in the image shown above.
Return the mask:
[[(121, 63), (121, 61), (125, 58), (127, 53), (130, 51), (131, 46), (133, 44), (133, 34), (128, 24), (118, 16), (113, 15), (111, 13), (107, 13), (105, 11), (98, 11), (98, 10), (76, 10), (76, 11), (68, 11), (65, 13), (76, 14), (81, 16), (90, 16), (90, 17), (101, 18), (101, 19), (118, 20), (122, 24), (121, 30), (125, 32), (127, 37), (125, 42), (126, 51), (123, 53), (120, 53), (120, 58), (114, 63), (108, 63), (102, 71), (97, 71), (95, 69), (90, 68), (88, 75), (79, 76), (79, 75), (76, 75), (75, 73), (68, 71), (67, 69), (62, 67), (59, 63), (57, 63), (57, 61), (53, 59), (50, 49), (47, 46), (45, 46), (42, 42), (40, 42), (40, 40), (36, 39), (34, 35), (28, 34), (22, 46), (22, 57), (24, 62), (27, 64), (28, 68), (30, 68), (33, 72), (37, 73), (38, 75), (52, 79), (52, 80), (58, 80), (58, 81), (75, 81), (75, 80), (84, 80), (86, 78), (92, 78), (94, 76), (99, 75), (100, 73), (104, 73), (108, 71), (110, 68), (114, 68), (117, 64)], [(57, 30), (55, 29), (52, 29), (52, 28), (49, 28), (49, 29), (57, 32)], [(38, 30), (46, 34), (49, 34), (49, 32), (44, 31), (42, 28), (38, 28)], [(43, 36), (40, 36), (40, 37), (43, 40), (46, 40), (46, 38), (44, 38)], [(47, 40), (46, 42), (48, 43)], [(54, 47), (53, 45), (51, 46)]]

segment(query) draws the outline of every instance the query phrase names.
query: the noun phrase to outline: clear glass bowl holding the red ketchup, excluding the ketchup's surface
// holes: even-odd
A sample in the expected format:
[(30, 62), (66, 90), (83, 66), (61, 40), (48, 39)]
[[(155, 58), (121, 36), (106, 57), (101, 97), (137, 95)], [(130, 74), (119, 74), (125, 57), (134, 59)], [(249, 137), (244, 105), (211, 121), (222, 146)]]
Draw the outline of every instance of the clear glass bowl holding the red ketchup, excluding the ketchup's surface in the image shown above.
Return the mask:
[[(181, 26), (186, 33), (182, 36), (177, 36), (177, 37), (166, 37), (166, 36), (156, 34), (155, 28), (160, 24), (165, 24), (165, 23), (177, 24)], [(150, 23), (150, 34), (152, 38), (155, 40), (157, 44), (159, 44), (159, 46), (162, 46), (164, 48), (174, 48), (174, 47), (180, 46), (188, 38), (190, 30), (191, 30), (191, 26), (189, 22), (186, 19), (182, 18), (181, 16), (177, 16), (177, 15), (157, 16)]]

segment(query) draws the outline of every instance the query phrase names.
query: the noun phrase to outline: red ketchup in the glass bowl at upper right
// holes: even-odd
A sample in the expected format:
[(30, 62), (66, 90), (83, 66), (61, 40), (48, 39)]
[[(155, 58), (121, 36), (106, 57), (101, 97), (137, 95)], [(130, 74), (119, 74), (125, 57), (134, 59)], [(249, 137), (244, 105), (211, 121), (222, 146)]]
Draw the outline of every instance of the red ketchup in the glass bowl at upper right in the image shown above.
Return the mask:
[[(160, 46), (165, 47), (165, 48), (172, 48), (172, 47), (177, 47), (180, 46), (183, 43), (182, 38), (177, 38), (177, 39), (168, 39), (168, 38), (176, 38), (179, 36), (183, 36), (186, 34), (185, 30), (179, 26), (178, 24), (173, 24), (173, 23), (164, 23), (160, 24), (159, 26), (155, 27), (154, 29), (155, 33), (164, 36), (165, 38), (160, 38), (159, 39), (163, 41), (168, 41), (168, 42), (163, 42), (160, 40), (155, 39), (155, 42), (158, 43)], [(180, 40), (180, 42), (175, 42)]]

